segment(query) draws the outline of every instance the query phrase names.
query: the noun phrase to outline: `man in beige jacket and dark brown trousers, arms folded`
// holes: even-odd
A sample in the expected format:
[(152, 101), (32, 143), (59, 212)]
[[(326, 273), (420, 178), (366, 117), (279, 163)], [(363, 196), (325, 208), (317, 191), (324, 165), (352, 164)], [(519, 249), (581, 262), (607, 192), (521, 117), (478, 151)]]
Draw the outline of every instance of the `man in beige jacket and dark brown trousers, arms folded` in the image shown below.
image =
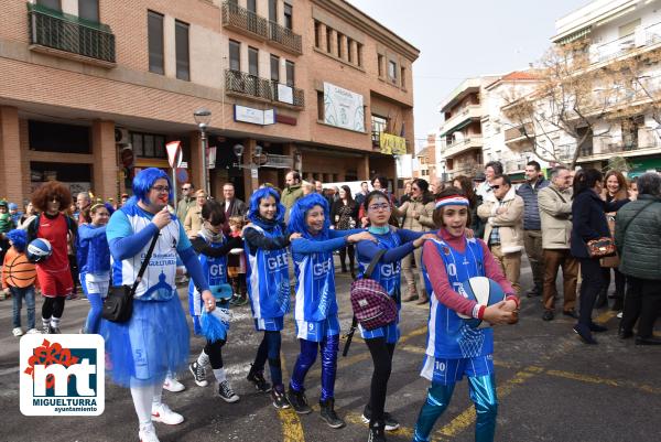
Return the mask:
[(551, 185), (538, 193), (538, 206), (542, 223), (542, 248), (544, 250), (544, 321), (554, 316), (557, 289), (555, 279), (557, 269), (562, 267), (564, 281), (563, 314), (577, 319), (576, 281), (578, 260), (570, 252), (572, 237), (572, 187), (571, 174), (564, 166), (551, 171)]

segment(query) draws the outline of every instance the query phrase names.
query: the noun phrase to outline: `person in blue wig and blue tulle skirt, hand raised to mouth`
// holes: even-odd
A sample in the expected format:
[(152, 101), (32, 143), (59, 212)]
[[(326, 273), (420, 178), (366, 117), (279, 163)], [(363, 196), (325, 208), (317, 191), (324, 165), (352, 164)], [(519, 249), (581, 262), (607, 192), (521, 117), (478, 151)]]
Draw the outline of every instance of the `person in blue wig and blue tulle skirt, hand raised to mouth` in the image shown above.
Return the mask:
[(133, 197), (115, 212), (106, 227), (112, 258), (112, 283), (132, 285), (154, 236), (158, 240), (133, 297), (131, 319), (101, 320), (108, 373), (130, 387), (142, 442), (158, 442), (153, 422), (177, 424), (184, 418), (161, 401), (167, 371), (188, 363), (188, 324), (174, 282), (176, 257), (202, 293), (205, 309), (215, 299), (183, 226), (167, 212), (172, 184), (160, 169), (149, 168), (133, 179)]

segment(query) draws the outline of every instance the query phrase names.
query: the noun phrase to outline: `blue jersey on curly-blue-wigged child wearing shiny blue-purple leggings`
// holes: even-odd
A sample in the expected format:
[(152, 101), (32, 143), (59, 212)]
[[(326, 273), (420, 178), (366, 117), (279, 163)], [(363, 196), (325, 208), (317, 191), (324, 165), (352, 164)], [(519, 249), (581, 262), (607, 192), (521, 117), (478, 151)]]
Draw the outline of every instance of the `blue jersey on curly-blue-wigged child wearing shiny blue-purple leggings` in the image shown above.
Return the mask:
[(333, 252), (293, 254), (293, 260), (294, 274), (296, 274), (294, 319), (318, 322), (336, 315)]

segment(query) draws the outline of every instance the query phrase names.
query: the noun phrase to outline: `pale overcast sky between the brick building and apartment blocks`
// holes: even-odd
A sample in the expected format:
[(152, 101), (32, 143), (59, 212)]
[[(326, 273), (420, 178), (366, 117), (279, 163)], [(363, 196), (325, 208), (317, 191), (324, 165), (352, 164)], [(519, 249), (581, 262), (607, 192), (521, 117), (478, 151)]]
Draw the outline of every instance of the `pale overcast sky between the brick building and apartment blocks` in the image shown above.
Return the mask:
[(555, 20), (589, 0), (348, 0), (420, 50), (413, 64), (416, 150), (442, 122), (438, 104), (465, 78), (525, 69)]

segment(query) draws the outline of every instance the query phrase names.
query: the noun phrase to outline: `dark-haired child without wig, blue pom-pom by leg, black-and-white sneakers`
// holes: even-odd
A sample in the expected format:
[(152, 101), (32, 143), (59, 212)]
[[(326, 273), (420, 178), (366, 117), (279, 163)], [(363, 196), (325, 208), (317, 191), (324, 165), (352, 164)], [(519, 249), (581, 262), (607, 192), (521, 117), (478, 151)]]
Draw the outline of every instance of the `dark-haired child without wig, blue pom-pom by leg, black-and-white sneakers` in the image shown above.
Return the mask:
[[(191, 240), (193, 248), (198, 255), (199, 262), (206, 274), (209, 285), (227, 285), (227, 254), (234, 248), (242, 247), (241, 238), (225, 238), (223, 235), (223, 226), (225, 224), (225, 209), (220, 203), (215, 200), (207, 201), (202, 206), (202, 229), (197, 236)], [(199, 292), (195, 288), (193, 281), (188, 287), (188, 305), (191, 316), (193, 317), (193, 328), (195, 334), (202, 334), (199, 316), (204, 309)], [(216, 300), (216, 306), (229, 310), (229, 298)], [(206, 345), (197, 357), (197, 360), (188, 365), (188, 369), (193, 374), (195, 384), (201, 387), (207, 385), (206, 365), (210, 365), (214, 370), (214, 377), (218, 382), (218, 395), (226, 402), (236, 402), (239, 396), (227, 380), (225, 369), (223, 368), (223, 346), (227, 342), (227, 331), (229, 323), (223, 323), (224, 336), (220, 339), (210, 342), (206, 341)]]

